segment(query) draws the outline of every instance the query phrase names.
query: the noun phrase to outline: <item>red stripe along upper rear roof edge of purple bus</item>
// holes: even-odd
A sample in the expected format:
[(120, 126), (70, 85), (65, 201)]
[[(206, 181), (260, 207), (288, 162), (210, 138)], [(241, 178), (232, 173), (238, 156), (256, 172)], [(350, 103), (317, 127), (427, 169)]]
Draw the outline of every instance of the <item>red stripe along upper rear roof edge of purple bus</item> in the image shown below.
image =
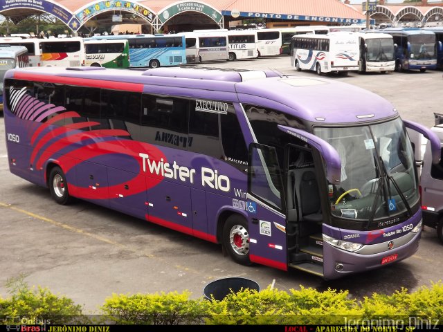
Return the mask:
[(36, 82), (91, 86), (102, 89), (114, 89), (114, 90), (132, 91), (132, 92), (143, 91), (143, 84), (139, 83), (92, 80), (90, 78), (64, 77), (57, 75), (40, 75), (40, 74), (21, 73), (21, 72), (14, 73), (14, 78), (17, 78), (18, 80), (30, 80)]

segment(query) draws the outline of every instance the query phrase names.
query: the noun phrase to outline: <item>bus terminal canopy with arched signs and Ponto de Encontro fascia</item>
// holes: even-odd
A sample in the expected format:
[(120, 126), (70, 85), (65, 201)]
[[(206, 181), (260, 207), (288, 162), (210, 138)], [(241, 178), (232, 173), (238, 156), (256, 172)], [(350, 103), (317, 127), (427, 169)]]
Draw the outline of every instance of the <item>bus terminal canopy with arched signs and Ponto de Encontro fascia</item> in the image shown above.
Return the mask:
[[(323, 6), (324, 5), (324, 6)], [(193, 21), (198, 15), (224, 28), (224, 20), (282, 19), (309, 21), (314, 24), (365, 24), (365, 16), (352, 6), (336, 0), (323, 0), (322, 6), (312, 6), (311, 0), (0, 0), (0, 14), (14, 24), (36, 14), (49, 14), (60, 19), (71, 30), (78, 31), (91, 19), (106, 23), (150, 24), (161, 29), (171, 19), (189, 15)]]

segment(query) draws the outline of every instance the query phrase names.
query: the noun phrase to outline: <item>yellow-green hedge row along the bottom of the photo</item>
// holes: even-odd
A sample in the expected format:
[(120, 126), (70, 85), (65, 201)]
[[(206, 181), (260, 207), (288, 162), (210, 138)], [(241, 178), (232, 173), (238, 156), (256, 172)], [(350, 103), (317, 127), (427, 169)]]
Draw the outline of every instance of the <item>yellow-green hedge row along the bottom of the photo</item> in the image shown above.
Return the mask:
[[(82, 306), (47, 288), (20, 284), (10, 297), (0, 297), (0, 315), (51, 320), (51, 324), (83, 324), (100, 317), (107, 324), (343, 324), (355, 320), (424, 320), (443, 318), (443, 284), (422, 286), (413, 293), (405, 288), (392, 295), (374, 293), (363, 299), (347, 291), (314, 288), (291, 289), (289, 293), (268, 287), (230, 293), (223, 300), (190, 299), (191, 293), (117, 295), (105, 299), (100, 316), (82, 315)], [(12, 324), (11, 322), (10, 324)]]

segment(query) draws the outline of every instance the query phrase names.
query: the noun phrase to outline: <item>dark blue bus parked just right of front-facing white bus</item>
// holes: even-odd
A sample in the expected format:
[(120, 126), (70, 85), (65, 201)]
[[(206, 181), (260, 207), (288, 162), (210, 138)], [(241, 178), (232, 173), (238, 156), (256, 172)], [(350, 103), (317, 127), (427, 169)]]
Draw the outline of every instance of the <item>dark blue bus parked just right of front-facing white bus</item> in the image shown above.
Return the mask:
[(397, 71), (419, 69), (424, 73), (436, 68), (435, 33), (419, 28), (386, 28), (382, 32), (394, 39)]

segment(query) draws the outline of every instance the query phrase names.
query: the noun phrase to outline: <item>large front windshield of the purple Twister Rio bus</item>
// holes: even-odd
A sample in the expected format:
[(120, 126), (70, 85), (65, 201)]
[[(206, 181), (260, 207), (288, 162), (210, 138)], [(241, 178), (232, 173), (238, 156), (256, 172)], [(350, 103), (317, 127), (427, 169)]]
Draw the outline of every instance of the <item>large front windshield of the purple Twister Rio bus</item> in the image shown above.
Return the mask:
[(333, 216), (370, 221), (411, 212), (419, 193), (413, 151), (400, 119), (362, 127), (316, 128), (341, 158), (341, 183), (329, 185)]

